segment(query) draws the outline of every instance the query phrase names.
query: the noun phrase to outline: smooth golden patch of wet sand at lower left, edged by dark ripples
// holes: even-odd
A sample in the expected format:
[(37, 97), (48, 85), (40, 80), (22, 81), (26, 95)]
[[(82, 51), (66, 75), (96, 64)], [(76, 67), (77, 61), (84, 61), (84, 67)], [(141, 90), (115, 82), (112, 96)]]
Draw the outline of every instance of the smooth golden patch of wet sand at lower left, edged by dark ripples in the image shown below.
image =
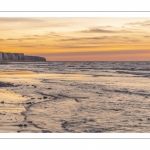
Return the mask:
[(19, 94), (0, 89), (0, 132), (17, 132), (19, 124), (24, 120), (21, 115), (27, 98)]

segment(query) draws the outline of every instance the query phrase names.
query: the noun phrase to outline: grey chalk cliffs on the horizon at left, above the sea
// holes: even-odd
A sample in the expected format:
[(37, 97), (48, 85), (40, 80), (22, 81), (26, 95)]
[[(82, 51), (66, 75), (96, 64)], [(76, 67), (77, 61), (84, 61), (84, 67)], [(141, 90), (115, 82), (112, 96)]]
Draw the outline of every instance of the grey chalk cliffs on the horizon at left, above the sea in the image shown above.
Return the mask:
[(26, 56), (23, 53), (0, 52), (0, 62), (1, 61), (46, 61), (46, 59), (39, 56)]

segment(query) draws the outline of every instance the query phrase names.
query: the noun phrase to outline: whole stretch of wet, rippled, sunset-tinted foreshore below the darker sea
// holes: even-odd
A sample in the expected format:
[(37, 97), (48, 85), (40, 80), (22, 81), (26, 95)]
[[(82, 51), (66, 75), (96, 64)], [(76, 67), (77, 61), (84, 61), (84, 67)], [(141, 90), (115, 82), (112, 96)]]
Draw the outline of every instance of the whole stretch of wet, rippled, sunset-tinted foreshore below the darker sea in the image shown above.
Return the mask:
[(26, 65), (14, 64), (14, 70), (10, 65), (7, 72), (1, 69), (0, 132), (150, 130), (148, 77), (119, 74), (114, 70), (66, 71), (66, 66), (64, 71), (61, 69), (64, 64), (60, 68), (56, 64), (56, 69), (51, 71), (52, 68), (43, 69), (40, 65), (28, 65), (28, 69), (23, 70)]

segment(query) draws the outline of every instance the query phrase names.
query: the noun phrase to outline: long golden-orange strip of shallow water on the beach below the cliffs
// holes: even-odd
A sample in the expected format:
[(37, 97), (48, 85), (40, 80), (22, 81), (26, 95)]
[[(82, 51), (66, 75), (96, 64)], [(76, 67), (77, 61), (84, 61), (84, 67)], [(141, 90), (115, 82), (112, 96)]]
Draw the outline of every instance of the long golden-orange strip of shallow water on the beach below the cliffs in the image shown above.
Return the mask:
[(59, 80), (89, 80), (91, 75), (84, 74), (38, 74), (32, 71), (9, 71), (0, 72), (0, 80), (12, 83), (40, 83), (43, 79), (59, 79)]

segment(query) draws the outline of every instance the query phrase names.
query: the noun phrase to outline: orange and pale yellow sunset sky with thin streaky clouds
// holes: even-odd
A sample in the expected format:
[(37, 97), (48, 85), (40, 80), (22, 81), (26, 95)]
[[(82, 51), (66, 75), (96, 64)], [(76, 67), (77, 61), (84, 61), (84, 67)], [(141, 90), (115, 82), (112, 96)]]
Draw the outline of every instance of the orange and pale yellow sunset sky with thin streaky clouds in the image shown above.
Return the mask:
[(150, 61), (150, 18), (0, 18), (0, 51), (48, 61)]

